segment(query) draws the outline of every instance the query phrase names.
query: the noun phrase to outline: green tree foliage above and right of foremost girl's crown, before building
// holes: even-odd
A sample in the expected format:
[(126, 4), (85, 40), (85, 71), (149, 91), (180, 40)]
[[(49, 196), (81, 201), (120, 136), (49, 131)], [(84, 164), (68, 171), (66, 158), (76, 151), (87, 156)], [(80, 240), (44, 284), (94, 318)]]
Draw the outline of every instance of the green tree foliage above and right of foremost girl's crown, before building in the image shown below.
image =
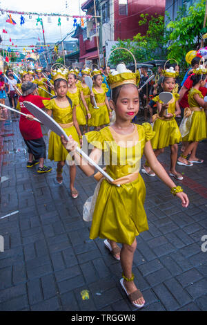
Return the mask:
[[(152, 59), (165, 59), (169, 43), (169, 31), (166, 30), (164, 17), (155, 14), (148, 19), (148, 14), (141, 14), (139, 26), (148, 24), (146, 35), (138, 33), (133, 39), (119, 39), (116, 47), (128, 48), (135, 55), (137, 62), (144, 62)], [(132, 56), (125, 51), (117, 50), (112, 53), (110, 63), (118, 64), (120, 61), (129, 64), (133, 61)]]

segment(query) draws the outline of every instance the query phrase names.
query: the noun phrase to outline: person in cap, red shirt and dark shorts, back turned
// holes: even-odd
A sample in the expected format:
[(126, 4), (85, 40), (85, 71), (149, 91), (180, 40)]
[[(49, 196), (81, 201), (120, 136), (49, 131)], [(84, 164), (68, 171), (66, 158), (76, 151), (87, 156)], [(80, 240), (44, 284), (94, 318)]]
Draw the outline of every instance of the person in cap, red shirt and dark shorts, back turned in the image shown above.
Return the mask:
[(26, 100), (37, 105), (39, 108), (43, 108), (43, 100), (46, 100), (44, 97), (40, 97), (35, 94), (37, 88), (36, 84), (32, 82), (23, 82), (21, 85), (22, 95), (19, 97), (19, 104), (21, 107), (21, 112), (28, 114), (28, 118), (21, 115), (19, 120), (19, 129), (23, 140), (28, 147), (29, 160), (27, 167), (33, 167), (39, 163), (37, 169), (38, 173), (48, 173), (52, 170), (52, 167), (47, 167), (44, 165), (44, 159), (46, 158), (46, 144), (43, 140), (43, 134), (41, 132), (41, 125), (39, 122), (33, 120), (33, 116), (30, 111), (26, 109), (23, 102)]

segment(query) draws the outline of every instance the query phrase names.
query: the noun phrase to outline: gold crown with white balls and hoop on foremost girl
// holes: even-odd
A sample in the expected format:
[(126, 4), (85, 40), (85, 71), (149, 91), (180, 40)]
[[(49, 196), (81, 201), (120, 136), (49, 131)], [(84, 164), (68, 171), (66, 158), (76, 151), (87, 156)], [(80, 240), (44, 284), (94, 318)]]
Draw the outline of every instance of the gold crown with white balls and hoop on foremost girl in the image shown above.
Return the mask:
[[(135, 60), (135, 73), (128, 70), (124, 63), (118, 64), (117, 69), (110, 71), (107, 77), (107, 82), (108, 84), (110, 84), (110, 88), (113, 89), (118, 86), (121, 86), (122, 84), (135, 84), (135, 86), (138, 86), (140, 75), (139, 71), (137, 71), (137, 62), (135, 56), (127, 48), (115, 48), (114, 50), (127, 50), (132, 55), (133, 59)], [(114, 50), (112, 50), (111, 53)], [(110, 57), (110, 55), (108, 56), (108, 58)], [(106, 66), (108, 66), (108, 59)]]

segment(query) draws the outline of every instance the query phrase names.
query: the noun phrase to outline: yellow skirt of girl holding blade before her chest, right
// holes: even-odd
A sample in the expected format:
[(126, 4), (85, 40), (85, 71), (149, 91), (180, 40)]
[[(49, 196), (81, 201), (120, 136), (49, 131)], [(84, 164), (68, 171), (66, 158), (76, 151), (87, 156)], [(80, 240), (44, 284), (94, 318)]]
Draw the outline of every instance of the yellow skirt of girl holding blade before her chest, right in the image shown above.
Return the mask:
[(153, 131), (155, 136), (151, 140), (152, 149), (162, 149), (181, 141), (181, 133), (174, 118), (170, 121), (157, 118)]

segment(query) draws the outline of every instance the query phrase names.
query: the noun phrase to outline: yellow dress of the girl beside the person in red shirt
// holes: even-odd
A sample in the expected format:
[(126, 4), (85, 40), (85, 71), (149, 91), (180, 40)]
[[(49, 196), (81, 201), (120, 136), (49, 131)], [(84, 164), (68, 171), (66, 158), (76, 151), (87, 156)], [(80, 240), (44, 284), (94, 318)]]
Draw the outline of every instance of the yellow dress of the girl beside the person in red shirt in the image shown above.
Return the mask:
[[(43, 104), (46, 109), (52, 110), (52, 115), (54, 120), (59, 124), (68, 124), (72, 123), (72, 109), (68, 102), (68, 107), (61, 108), (57, 106), (55, 98), (52, 100), (43, 100)], [(77, 130), (74, 126), (63, 128), (67, 136), (72, 136), (72, 138), (77, 141), (79, 144), (79, 136)], [(61, 138), (55, 133), (50, 133), (49, 139), (49, 149), (48, 149), (48, 159), (55, 161), (64, 161), (68, 156), (68, 151), (63, 147), (61, 143)], [(69, 159), (70, 160), (70, 157)]]

